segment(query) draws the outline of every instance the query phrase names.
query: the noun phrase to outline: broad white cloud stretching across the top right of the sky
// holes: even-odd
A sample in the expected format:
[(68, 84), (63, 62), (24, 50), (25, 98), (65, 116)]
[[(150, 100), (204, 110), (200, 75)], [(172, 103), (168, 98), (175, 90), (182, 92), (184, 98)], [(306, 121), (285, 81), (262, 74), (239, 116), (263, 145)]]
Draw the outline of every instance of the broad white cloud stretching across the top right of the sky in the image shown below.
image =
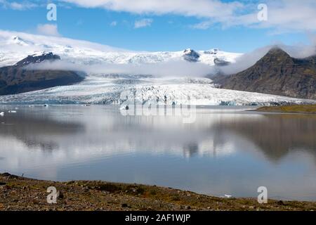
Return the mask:
[[(245, 26), (275, 32), (316, 31), (315, 0), (60, 0), (87, 8), (105, 8), (136, 14), (176, 14), (195, 16), (202, 21), (191, 27), (208, 29)], [(268, 21), (258, 20), (258, 4), (268, 5)]]

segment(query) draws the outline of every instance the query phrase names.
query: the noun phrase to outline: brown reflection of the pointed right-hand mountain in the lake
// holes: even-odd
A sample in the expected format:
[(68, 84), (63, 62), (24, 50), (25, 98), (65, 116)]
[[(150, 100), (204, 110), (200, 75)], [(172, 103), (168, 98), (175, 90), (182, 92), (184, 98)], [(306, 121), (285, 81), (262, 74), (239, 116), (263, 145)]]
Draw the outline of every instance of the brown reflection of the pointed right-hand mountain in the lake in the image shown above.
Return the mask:
[(245, 136), (270, 160), (280, 160), (294, 150), (305, 150), (316, 160), (316, 116), (265, 115), (264, 120), (235, 120), (218, 124)]

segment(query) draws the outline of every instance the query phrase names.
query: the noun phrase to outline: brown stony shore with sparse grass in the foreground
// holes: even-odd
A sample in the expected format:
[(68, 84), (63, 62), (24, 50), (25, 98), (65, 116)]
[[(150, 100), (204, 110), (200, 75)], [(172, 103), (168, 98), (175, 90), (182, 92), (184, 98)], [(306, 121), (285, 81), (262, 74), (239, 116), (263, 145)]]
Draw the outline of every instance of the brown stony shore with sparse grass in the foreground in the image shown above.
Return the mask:
[[(46, 192), (55, 186), (56, 204)], [(215, 198), (173, 188), (104, 181), (53, 182), (0, 174), (0, 210), (316, 210), (316, 203), (252, 198)]]

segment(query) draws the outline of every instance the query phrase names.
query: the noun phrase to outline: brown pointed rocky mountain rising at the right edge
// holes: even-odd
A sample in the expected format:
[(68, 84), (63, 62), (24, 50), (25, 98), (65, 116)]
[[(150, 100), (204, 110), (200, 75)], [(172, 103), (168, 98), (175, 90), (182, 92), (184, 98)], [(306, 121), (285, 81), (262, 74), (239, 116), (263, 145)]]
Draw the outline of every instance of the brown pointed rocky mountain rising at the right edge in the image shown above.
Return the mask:
[(251, 68), (213, 80), (223, 89), (316, 99), (316, 56), (291, 58), (274, 48)]

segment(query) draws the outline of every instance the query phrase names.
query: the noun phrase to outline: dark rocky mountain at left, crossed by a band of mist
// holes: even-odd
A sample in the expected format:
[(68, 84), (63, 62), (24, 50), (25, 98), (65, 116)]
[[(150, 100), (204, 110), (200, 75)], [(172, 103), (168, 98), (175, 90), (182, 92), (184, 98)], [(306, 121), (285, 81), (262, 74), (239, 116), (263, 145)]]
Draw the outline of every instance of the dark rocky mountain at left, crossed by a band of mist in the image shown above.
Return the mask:
[(0, 68), (0, 95), (19, 94), (53, 86), (70, 85), (81, 82), (80, 72), (63, 70), (28, 70), (27, 65), (44, 61), (60, 60), (53, 53), (41, 56), (27, 56), (15, 65)]

